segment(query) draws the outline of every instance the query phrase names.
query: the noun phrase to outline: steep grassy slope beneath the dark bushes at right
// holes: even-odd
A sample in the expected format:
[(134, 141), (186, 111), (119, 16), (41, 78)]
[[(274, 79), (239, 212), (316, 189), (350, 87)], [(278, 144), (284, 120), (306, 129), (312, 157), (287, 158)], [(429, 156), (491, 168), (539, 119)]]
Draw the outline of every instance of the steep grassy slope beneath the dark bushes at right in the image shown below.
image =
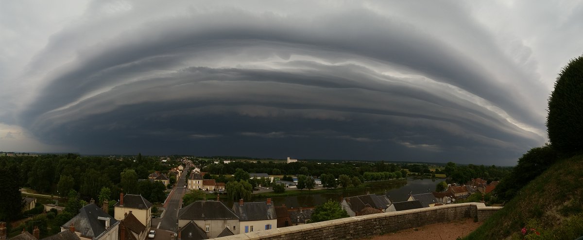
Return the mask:
[(540, 232), (533, 239), (575, 239), (583, 235), (582, 206), (583, 155), (553, 164), (465, 239), (523, 239), (523, 227)]

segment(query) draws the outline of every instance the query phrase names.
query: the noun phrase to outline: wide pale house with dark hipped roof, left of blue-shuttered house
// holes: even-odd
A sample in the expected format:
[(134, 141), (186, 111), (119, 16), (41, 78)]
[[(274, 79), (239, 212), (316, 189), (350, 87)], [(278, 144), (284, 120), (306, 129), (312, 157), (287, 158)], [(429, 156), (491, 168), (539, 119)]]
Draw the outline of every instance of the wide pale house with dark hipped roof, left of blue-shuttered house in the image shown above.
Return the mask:
[[(216, 238), (225, 228), (239, 234), (239, 217), (219, 201), (196, 201), (178, 211), (178, 227), (194, 223), (206, 232), (207, 238)], [(183, 233), (184, 234), (184, 233)]]

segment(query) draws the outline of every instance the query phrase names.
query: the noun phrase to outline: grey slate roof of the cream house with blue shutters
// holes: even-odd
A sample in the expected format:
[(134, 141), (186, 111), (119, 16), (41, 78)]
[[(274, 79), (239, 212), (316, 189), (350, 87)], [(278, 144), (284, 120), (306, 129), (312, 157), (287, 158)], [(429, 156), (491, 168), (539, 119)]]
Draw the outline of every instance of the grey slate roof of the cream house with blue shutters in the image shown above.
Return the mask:
[(236, 202), (233, 203), (233, 212), (239, 216), (239, 221), (278, 219), (273, 203), (267, 204), (267, 202), (243, 203), (243, 206)]

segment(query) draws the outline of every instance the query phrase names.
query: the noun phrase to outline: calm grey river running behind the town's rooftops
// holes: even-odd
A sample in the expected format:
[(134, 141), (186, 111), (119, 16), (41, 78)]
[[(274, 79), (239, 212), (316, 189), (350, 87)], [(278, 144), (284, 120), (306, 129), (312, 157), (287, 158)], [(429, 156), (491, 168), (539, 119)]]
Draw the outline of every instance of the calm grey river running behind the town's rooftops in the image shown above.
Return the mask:
[[(375, 193), (378, 195), (387, 194), (391, 202), (402, 202), (409, 198), (409, 194), (419, 194), (432, 192), (436, 189), (436, 185), (439, 182), (445, 181), (445, 179), (415, 179), (407, 178), (405, 181), (382, 181), (374, 182), (367, 186), (365, 189), (359, 190), (346, 190), (343, 192), (333, 192), (333, 193), (317, 193), (313, 195), (300, 195), (300, 196), (285, 196), (285, 197), (272, 197), (271, 201), (275, 203), (275, 206), (281, 206), (281, 204), (286, 204), (288, 208), (296, 207), (313, 207), (319, 204), (325, 203), (328, 199), (336, 200), (340, 202), (343, 197), (352, 197), (359, 195), (366, 195), (368, 193)], [(252, 202), (265, 202), (264, 197), (253, 196)], [(226, 202), (227, 206), (233, 206), (233, 202)]]

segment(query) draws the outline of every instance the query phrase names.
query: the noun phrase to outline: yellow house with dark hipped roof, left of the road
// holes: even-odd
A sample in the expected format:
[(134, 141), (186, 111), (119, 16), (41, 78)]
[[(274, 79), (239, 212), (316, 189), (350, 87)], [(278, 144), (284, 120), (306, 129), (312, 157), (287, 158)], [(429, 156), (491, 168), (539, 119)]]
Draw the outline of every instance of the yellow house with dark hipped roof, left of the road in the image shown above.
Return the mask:
[(115, 220), (122, 220), (132, 213), (146, 228), (152, 227), (152, 203), (142, 195), (120, 193), (120, 201), (114, 205)]

